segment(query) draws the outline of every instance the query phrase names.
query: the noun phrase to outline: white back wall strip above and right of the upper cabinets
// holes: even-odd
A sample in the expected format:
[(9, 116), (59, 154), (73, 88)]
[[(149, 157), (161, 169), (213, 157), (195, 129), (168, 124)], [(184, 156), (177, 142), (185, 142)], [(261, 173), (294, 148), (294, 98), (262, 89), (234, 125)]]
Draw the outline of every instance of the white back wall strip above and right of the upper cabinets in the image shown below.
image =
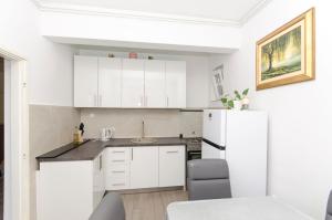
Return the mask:
[[(106, 56), (113, 53), (116, 57), (127, 57), (126, 52), (110, 52), (98, 50), (79, 50), (81, 55)], [(187, 63), (187, 107), (207, 107), (209, 105), (209, 56), (207, 55), (170, 55), (158, 53), (138, 53), (138, 59), (147, 59), (148, 55), (156, 60), (186, 61)]]

